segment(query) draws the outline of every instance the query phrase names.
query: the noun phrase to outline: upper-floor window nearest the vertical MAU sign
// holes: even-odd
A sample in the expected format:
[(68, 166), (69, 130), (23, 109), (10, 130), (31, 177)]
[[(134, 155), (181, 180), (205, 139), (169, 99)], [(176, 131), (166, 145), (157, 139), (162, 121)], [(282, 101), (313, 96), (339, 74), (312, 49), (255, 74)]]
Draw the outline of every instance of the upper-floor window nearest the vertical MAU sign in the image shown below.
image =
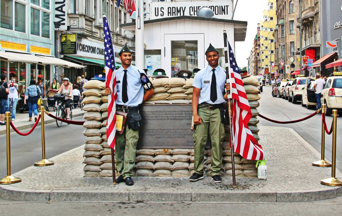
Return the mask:
[[(33, 4), (32, 2), (35, 3)], [(50, 1), (42, 0), (42, 4), (40, 6), (39, 1), (31, 0), (31, 3), (31, 35), (41, 36), (43, 38), (50, 38)]]

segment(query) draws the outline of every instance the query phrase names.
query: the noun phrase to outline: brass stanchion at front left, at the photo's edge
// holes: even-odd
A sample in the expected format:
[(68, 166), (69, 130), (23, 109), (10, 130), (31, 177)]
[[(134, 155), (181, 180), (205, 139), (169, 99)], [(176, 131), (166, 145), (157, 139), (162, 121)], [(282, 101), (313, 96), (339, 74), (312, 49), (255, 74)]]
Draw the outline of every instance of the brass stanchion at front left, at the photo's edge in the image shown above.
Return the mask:
[(5, 113), (6, 119), (6, 153), (7, 153), (7, 176), (0, 180), (0, 184), (12, 184), (21, 182), (21, 178), (11, 175), (11, 138), (10, 138), (10, 112)]

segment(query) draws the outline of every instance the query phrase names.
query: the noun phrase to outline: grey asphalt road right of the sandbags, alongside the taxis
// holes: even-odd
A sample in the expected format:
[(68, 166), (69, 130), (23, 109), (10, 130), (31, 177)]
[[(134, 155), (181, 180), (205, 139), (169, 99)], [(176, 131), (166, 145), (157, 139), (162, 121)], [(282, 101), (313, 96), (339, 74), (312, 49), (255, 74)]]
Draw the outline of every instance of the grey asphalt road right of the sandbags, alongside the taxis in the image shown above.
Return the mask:
[[(285, 99), (272, 97), (272, 89), (270, 86), (264, 86), (263, 92), (260, 93), (261, 99), (260, 107), (258, 107), (259, 113), (263, 116), (278, 121), (291, 121), (304, 118), (312, 114), (315, 110), (309, 110), (306, 107), (302, 107), (300, 102), (298, 104), (292, 104)], [(338, 113), (337, 117), (337, 152), (336, 152), (336, 167), (342, 171), (342, 113)], [(310, 145), (312, 145), (318, 152), (321, 152), (321, 114), (307, 119), (302, 122), (292, 124), (278, 124), (269, 122), (258, 117), (261, 126), (280, 126), (290, 127), (295, 130), (303, 139), (305, 139)], [(332, 117), (326, 117), (327, 127), (330, 129), (332, 123)], [(279, 136), (287, 136), (287, 134), (279, 134)], [(262, 144), (262, 140), (261, 140)], [(325, 135), (325, 159), (331, 161), (331, 149), (332, 149), (332, 135)], [(291, 151), (291, 149), (289, 149)], [(267, 156), (266, 156), (267, 157)], [(272, 160), (272, 156), (269, 156)], [(303, 157), (305, 157), (303, 155)], [(320, 158), (317, 158), (319, 160)], [(314, 162), (314, 161), (313, 161)]]

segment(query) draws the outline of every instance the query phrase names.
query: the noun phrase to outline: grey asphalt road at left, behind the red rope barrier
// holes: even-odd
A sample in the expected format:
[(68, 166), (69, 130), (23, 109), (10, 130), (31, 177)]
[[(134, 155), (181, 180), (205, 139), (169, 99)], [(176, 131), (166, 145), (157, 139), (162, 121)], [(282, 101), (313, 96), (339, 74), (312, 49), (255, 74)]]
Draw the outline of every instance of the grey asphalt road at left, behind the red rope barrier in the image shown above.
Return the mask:
[[(84, 121), (82, 116), (73, 119)], [(29, 129), (21, 132), (28, 132)], [(71, 125), (63, 123), (57, 127), (56, 123), (45, 124), (45, 156), (46, 159), (83, 145), (84, 136), (82, 125)], [(0, 178), (7, 174), (6, 167), (6, 135), (0, 136)], [(42, 159), (41, 127), (28, 136), (20, 136), (15, 132), (11, 133), (11, 171), (12, 174), (21, 171), (35, 162)]]

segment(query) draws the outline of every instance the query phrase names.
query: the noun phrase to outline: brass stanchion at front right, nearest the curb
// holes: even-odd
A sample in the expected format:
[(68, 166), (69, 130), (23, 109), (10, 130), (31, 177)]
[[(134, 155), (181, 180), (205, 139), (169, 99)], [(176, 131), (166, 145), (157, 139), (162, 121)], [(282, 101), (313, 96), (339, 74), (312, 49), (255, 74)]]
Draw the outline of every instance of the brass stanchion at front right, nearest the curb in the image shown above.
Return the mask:
[(337, 110), (332, 110), (332, 155), (331, 155), (331, 177), (321, 180), (322, 185), (342, 186), (342, 181), (336, 178), (336, 133), (337, 133)]

